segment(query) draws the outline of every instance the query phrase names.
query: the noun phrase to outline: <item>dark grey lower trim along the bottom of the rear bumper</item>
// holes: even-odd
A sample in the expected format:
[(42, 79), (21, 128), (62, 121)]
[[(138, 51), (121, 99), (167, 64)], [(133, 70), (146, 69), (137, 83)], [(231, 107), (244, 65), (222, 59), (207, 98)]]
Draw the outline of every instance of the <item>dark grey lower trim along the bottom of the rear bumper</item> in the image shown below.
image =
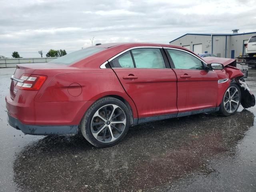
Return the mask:
[(30, 135), (75, 135), (78, 134), (79, 125), (26, 125), (8, 113), (10, 126)]

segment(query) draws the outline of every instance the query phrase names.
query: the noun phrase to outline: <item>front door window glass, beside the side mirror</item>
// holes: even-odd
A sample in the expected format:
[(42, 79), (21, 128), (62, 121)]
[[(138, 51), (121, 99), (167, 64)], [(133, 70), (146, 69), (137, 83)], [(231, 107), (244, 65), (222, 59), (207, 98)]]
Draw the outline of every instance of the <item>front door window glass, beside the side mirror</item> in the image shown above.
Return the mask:
[(172, 49), (167, 49), (167, 52), (176, 69), (204, 70), (202, 61), (189, 53)]

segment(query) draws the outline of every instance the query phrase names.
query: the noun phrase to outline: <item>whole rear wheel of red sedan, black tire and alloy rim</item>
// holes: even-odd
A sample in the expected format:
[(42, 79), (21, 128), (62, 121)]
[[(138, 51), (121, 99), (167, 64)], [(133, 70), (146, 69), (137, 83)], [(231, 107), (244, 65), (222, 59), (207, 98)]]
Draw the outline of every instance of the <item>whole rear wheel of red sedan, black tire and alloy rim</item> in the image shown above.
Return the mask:
[(120, 100), (105, 97), (87, 110), (81, 123), (81, 132), (94, 146), (112, 146), (126, 135), (130, 127), (130, 111)]

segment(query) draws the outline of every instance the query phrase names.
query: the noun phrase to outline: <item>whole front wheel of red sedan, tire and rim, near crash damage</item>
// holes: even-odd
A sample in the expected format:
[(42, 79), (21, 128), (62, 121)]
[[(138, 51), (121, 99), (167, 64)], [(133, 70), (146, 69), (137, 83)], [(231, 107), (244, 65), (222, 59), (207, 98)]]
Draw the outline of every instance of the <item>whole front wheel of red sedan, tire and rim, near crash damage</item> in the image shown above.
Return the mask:
[[(237, 90), (237, 93), (235, 93), (235, 96), (239, 96), (239, 98), (235, 97), (234, 96), (234, 102), (233, 102), (233, 99), (232, 98), (228, 98), (228, 90), (229, 92), (232, 92), (232, 90)], [(232, 94), (232, 93), (229, 93), (229, 94)], [(231, 95), (232, 96), (232, 95)], [(227, 102), (228, 101), (228, 102)], [(236, 103), (236, 102), (238, 103)], [(224, 93), (224, 96), (223, 96), (223, 99), (222, 99), (222, 102), (220, 104), (220, 110), (219, 110), (219, 113), (223, 116), (230, 116), (230, 115), (233, 115), (239, 108), (239, 105), (240, 105), (240, 102), (241, 102), (241, 91), (240, 91), (240, 87), (235, 84), (235, 83), (232, 83), (230, 84), (230, 86), (228, 86), (227, 90), (225, 91)], [(226, 104), (225, 104), (226, 103)], [(225, 105), (224, 105), (225, 104)], [(230, 107), (231, 106), (231, 107)]]

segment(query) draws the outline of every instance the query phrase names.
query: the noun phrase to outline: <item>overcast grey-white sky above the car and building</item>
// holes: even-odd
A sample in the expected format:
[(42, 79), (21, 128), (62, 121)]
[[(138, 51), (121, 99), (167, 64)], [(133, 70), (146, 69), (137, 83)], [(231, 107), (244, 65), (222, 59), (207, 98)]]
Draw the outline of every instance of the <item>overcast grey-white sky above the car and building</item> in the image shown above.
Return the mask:
[(166, 43), (186, 33), (256, 31), (255, 0), (0, 0), (0, 55), (95, 43)]

